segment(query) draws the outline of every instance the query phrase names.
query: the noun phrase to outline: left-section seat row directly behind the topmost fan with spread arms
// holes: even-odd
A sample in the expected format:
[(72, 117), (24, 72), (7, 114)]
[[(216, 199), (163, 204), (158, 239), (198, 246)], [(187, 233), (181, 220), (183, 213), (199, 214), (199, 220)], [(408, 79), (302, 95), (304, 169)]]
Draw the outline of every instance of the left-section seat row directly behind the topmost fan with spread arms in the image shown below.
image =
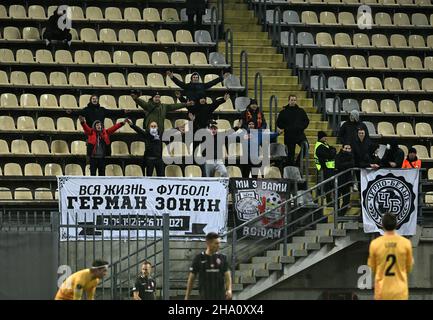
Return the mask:
[[(178, 78), (182, 78), (177, 75)], [(206, 74), (204, 81), (212, 81), (217, 79), (219, 76), (216, 74)], [(82, 72), (71, 72), (69, 74), (69, 82), (66, 78), (66, 74), (63, 72), (51, 72), (49, 81), (47, 75), (42, 71), (33, 71), (27, 77), (27, 73), (24, 71), (12, 71), (10, 77), (5, 71), (0, 70), (0, 85), (11, 85), (11, 86), (74, 86), (74, 87), (150, 87), (150, 88), (179, 88), (170, 77), (165, 77), (160, 73), (151, 72), (146, 76), (146, 81), (142, 73), (131, 72), (127, 78), (123, 73), (110, 72), (107, 78), (102, 72), (91, 72), (86, 75)], [(107, 82), (108, 80), (108, 82)], [(240, 87), (239, 79), (232, 77), (224, 80), (224, 84), (227, 87)], [(212, 88), (223, 88), (221, 82), (214, 85)]]

